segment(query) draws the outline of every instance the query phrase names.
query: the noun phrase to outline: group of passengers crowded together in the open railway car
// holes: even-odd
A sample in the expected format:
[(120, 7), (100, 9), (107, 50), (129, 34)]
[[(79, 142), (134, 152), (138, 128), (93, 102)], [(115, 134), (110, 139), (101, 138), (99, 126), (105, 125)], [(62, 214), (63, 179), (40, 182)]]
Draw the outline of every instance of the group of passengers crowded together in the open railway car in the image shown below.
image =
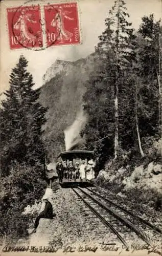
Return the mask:
[(95, 179), (94, 172), (94, 161), (91, 159), (86, 164), (85, 160), (81, 160), (81, 163), (78, 161), (73, 164), (73, 161), (69, 161), (68, 164), (66, 161), (59, 160), (56, 169), (59, 176), (60, 182), (62, 179), (86, 179), (91, 180)]

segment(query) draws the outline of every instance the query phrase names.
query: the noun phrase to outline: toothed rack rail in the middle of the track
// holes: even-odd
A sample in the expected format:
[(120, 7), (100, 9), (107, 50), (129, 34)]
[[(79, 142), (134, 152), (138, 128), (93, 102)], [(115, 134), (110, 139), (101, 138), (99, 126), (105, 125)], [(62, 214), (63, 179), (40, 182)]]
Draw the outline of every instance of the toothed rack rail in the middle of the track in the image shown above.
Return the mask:
[(125, 219), (121, 214), (119, 214), (118, 212), (115, 212), (113, 209), (108, 208), (106, 205), (104, 205), (103, 203), (101, 203), (99, 200), (95, 199), (94, 197), (92, 197), (91, 195), (89, 195), (88, 193), (86, 193), (82, 188), (78, 187), (78, 189), (80, 189), (82, 191), (82, 193), (84, 193), (86, 196), (88, 196), (89, 198), (91, 198), (94, 202), (96, 202), (98, 205), (100, 205), (102, 208), (106, 209), (112, 216), (114, 216), (115, 218), (119, 219), (122, 223), (124, 223), (126, 226), (128, 226), (129, 228), (131, 228), (138, 236), (140, 236), (148, 245), (150, 245), (151, 243), (156, 244), (156, 241), (154, 241), (154, 239), (152, 239), (151, 237), (148, 236), (148, 234), (146, 234), (141, 228), (139, 228), (138, 226), (136, 226), (135, 224), (133, 224), (131, 221), (129, 221), (128, 219)]

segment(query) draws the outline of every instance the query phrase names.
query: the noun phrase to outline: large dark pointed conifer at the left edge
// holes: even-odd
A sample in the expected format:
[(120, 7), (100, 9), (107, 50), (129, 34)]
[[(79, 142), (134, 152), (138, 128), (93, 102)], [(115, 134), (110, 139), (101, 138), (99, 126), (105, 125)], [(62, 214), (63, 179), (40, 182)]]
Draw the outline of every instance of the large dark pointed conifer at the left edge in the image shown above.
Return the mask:
[(1, 109), (1, 167), (9, 173), (14, 161), (35, 165), (43, 162), (41, 127), (46, 108), (38, 102), (40, 89), (33, 90), (33, 77), (27, 71), (28, 61), (20, 56), (10, 75), (10, 89)]

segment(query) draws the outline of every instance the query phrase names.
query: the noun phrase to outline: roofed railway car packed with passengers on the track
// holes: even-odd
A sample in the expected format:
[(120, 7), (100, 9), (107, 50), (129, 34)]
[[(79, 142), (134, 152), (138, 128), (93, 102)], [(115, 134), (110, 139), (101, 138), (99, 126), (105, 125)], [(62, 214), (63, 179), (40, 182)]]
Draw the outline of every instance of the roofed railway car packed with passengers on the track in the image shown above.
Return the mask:
[(93, 151), (74, 150), (59, 154), (56, 165), (60, 184), (93, 184), (95, 181)]

